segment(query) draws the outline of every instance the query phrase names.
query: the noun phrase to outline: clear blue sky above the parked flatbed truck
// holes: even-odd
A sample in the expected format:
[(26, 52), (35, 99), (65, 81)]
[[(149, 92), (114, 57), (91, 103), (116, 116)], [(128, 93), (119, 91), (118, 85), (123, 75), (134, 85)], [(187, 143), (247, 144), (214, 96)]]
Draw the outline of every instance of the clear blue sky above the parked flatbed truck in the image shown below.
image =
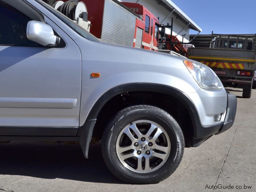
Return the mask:
[[(256, 0), (171, 0), (200, 28), (200, 34), (255, 34)], [(197, 34), (190, 30), (190, 34)]]

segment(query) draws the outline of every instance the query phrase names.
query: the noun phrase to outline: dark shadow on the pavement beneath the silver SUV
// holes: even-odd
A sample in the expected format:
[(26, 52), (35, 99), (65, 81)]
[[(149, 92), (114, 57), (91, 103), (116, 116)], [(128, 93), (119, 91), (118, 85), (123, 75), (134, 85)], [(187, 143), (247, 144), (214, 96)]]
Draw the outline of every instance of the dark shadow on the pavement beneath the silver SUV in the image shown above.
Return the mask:
[(0, 144), (0, 174), (96, 183), (124, 183), (108, 170), (100, 144), (85, 159), (80, 145), (16, 142)]

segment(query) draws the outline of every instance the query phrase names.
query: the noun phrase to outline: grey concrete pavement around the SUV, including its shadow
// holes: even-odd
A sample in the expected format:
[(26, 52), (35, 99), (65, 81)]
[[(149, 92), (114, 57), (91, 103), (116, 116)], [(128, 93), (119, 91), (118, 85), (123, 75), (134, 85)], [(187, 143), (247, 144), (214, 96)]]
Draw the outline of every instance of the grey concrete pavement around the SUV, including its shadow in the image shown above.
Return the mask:
[[(12, 141), (0, 144), (0, 192), (254, 192), (256, 90), (251, 99), (242, 98), (241, 89), (228, 91), (238, 101), (233, 126), (197, 148), (185, 148), (178, 169), (158, 184), (132, 185), (118, 180), (105, 166), (99, 144), (92, 145), (89, 159), (84, 159), (79, 145)], [(212, 185), (222, 189), (211, 189)], [(225, 186), (235, 189), (223, 189)]]

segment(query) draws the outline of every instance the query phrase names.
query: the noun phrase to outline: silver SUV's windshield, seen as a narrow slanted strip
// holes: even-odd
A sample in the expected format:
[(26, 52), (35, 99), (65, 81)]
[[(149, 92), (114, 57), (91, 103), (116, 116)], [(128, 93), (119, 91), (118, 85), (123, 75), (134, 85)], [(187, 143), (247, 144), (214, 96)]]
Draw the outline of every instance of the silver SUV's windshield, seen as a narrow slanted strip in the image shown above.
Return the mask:
[(35, 0), (35, 1), (38, 2), (39, 4), (41, 4), (42, 6), (44, 6), (44, 8), (49, 10), (52, 14), (54, 14), (56, 17), (58, 17), (61, 21), (63, 21), (68, 27), (73, 29), (80, 36), (82, 36), (88, 40), (91, 40), (91, 41), (99, 41), (97, 39), (97, 37), (95, 37), (91, 33), (87, 32), (84, 28), (77, 25), (73, 20), (69, 19), (67, 16), (63, 15), (61, 12), (57, 11), (50, 5), (44, 3), (42, 0)]

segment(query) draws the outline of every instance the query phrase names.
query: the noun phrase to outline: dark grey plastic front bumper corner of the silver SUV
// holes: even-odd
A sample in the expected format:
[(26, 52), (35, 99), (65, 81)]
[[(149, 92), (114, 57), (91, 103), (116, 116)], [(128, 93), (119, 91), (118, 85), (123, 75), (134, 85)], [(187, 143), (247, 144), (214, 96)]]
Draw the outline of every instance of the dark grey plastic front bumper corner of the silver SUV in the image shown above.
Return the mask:
[(236, 105), (237, 100), (236, 96), (230, 93), (228, 95), (228, 102), (227, 102), (227, 109), (225, 118), (222, 124), (211, 126), (211, 127), (204, 127), (197, 124), (196, 126), (196, 137), (194, 137), (191, 141), (191, 147), (198, 147), (200, 146), (205, 140), (209, 139), (212, 135), (220, 134), (226, 130), (228, 130), (234, 123), (236, 117)]

